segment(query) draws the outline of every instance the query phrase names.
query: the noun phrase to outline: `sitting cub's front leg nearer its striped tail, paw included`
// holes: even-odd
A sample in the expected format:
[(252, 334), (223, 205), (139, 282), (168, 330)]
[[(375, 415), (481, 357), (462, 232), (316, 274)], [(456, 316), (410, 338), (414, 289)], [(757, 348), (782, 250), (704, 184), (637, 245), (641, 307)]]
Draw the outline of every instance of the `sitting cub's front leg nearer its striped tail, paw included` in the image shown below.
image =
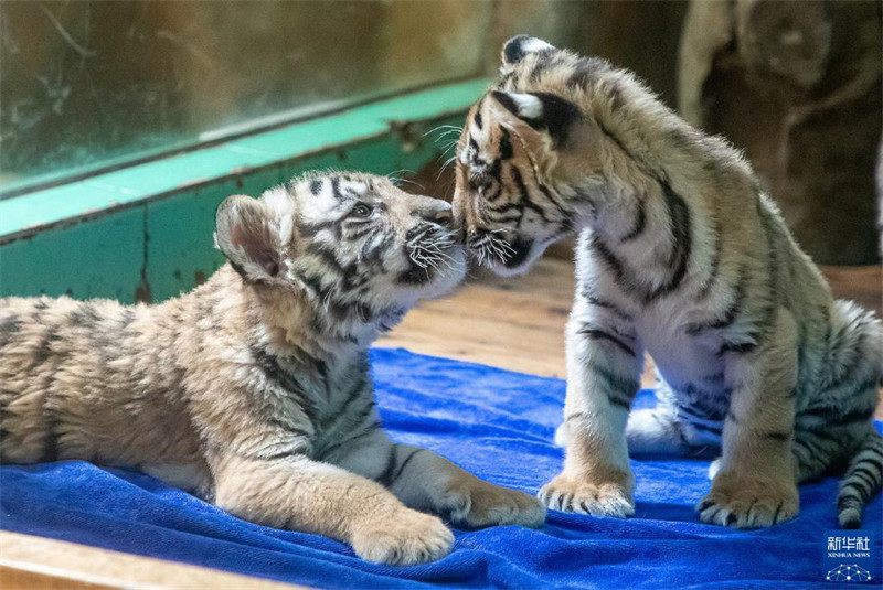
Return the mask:
[(723, 453), (711, 492), (696, 509), (703, 523), (760, 527), (797, 515), (792, 457), (797, 328), (778, 309), (759, 346), (725, 352), (732, 387)]

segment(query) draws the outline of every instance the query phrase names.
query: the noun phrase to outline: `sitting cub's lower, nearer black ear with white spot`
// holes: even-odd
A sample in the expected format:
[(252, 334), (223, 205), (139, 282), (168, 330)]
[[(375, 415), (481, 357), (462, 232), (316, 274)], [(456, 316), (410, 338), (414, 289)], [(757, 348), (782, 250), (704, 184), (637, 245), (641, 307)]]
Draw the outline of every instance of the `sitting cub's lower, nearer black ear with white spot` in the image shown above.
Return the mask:
[(583, 120), (579, 107), (551, 93), (493, 92), (491, 96), (518, 120), (535, 131), (549, 133), (555, 148), (565, 143), (574, 125)]

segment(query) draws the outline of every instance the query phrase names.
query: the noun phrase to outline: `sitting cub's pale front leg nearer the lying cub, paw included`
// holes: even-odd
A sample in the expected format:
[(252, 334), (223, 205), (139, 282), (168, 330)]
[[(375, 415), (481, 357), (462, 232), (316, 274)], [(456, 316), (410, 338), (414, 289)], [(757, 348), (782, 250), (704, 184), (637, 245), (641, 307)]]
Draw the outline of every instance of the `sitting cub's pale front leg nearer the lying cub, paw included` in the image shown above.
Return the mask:
[(635, 514), (626, 420), (640, 386), (643, 351), (611, 328), (572, 319), (567, 328), (564, 469), (540, 491), (550, 508)]

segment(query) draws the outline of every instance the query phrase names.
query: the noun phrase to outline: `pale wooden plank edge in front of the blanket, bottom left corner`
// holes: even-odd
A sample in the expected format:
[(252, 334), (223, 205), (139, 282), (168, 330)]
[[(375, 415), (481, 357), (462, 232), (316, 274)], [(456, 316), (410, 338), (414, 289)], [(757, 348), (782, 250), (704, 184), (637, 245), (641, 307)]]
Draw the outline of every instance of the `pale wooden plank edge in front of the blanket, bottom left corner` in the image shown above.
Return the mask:
[(306, 588), (75, 543), (0, 530), (3, 590)]

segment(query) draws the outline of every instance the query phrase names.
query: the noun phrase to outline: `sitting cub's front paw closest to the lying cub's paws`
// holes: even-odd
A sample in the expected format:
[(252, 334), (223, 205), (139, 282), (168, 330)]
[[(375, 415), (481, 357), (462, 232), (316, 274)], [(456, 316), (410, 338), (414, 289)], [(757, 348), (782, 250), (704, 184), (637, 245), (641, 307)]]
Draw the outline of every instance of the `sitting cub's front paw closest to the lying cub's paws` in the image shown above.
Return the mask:
[(550, 509), (577, 512), (592, 516), (626, 517), (635, 514), (629, 476), (620, 481), (594, 482), (562, 473), (540, 490), (540, 501)]

